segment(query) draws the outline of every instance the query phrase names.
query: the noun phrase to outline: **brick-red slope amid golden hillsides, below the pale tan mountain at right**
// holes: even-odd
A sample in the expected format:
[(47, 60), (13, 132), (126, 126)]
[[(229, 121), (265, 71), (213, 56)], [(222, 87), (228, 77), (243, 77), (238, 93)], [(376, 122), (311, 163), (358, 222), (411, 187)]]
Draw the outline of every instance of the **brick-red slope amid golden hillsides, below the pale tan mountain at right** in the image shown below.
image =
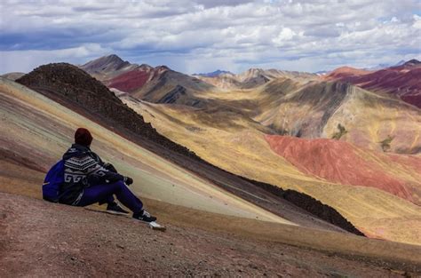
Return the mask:
[[(400, 167), (417, 168), (421, 158), (385, 155), (332, 139), (266, 135), (266, 141), (275, 153), (307, 174), (344, 185), (376, 187), (411, 203), (419, 203), (420, 184), (415, 185), (394, 171)], [(386, 171), (385, 165), (390, 171)]]

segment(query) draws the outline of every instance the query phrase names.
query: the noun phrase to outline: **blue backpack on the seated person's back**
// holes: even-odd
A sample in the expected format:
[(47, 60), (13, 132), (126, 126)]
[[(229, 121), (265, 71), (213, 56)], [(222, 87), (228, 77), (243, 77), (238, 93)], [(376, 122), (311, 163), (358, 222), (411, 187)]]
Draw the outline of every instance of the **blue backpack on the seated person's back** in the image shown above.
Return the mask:
[(43, 184), (43, 199), (58, 203), (61, 197), (60, 187), (64, 183), (64, 161), (60, 160), (47, 172)]

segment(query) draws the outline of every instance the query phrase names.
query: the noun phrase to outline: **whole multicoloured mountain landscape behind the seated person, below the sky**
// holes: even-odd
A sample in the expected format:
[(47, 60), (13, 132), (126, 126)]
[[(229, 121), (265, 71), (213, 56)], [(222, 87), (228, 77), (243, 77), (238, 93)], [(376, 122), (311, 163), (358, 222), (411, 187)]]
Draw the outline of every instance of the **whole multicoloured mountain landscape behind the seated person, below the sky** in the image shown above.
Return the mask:
[(83, 126), (181, 231), (174, 239), (190, 225), (417, 263), (408, 253), (421, 245), (419, 69), (409, 60), (327, 75), (185, 75), (109, 55), (5, 75), (2, 191), (39, 198), (45, 171)]

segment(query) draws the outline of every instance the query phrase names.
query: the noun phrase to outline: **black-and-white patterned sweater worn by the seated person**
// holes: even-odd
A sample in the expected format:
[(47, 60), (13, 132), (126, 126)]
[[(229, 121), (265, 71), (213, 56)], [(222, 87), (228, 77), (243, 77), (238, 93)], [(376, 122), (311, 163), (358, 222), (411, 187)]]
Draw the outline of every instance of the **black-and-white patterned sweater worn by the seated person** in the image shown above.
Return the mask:
[[(60, 203), (75, 205), (80, 201), (84, 187), (124, 179), (116, 171), (107, 170), (107, 164), (89, 147), (73, 144), (63, 155), (63, 160), (65, 171), (64, 183), (60, 187)], [(114, 170), (114, 167), (112, 169)]]

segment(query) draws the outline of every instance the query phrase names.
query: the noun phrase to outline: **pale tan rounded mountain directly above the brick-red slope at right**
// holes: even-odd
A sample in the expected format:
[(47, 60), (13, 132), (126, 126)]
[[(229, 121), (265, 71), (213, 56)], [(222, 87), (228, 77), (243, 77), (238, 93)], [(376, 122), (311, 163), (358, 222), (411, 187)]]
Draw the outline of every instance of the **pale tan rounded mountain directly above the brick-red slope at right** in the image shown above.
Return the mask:
[(382, 150), (380, 141), (391, 136), (391, 152), (415, 154), (421, 149), (421, 110), (393, 97), (322, 82), (289, 91), (278, 103), (255, 120), (281, 134), (305, 138), (332, 138), (341, 124), (346, 128), (341, 139), (359, 147)]

